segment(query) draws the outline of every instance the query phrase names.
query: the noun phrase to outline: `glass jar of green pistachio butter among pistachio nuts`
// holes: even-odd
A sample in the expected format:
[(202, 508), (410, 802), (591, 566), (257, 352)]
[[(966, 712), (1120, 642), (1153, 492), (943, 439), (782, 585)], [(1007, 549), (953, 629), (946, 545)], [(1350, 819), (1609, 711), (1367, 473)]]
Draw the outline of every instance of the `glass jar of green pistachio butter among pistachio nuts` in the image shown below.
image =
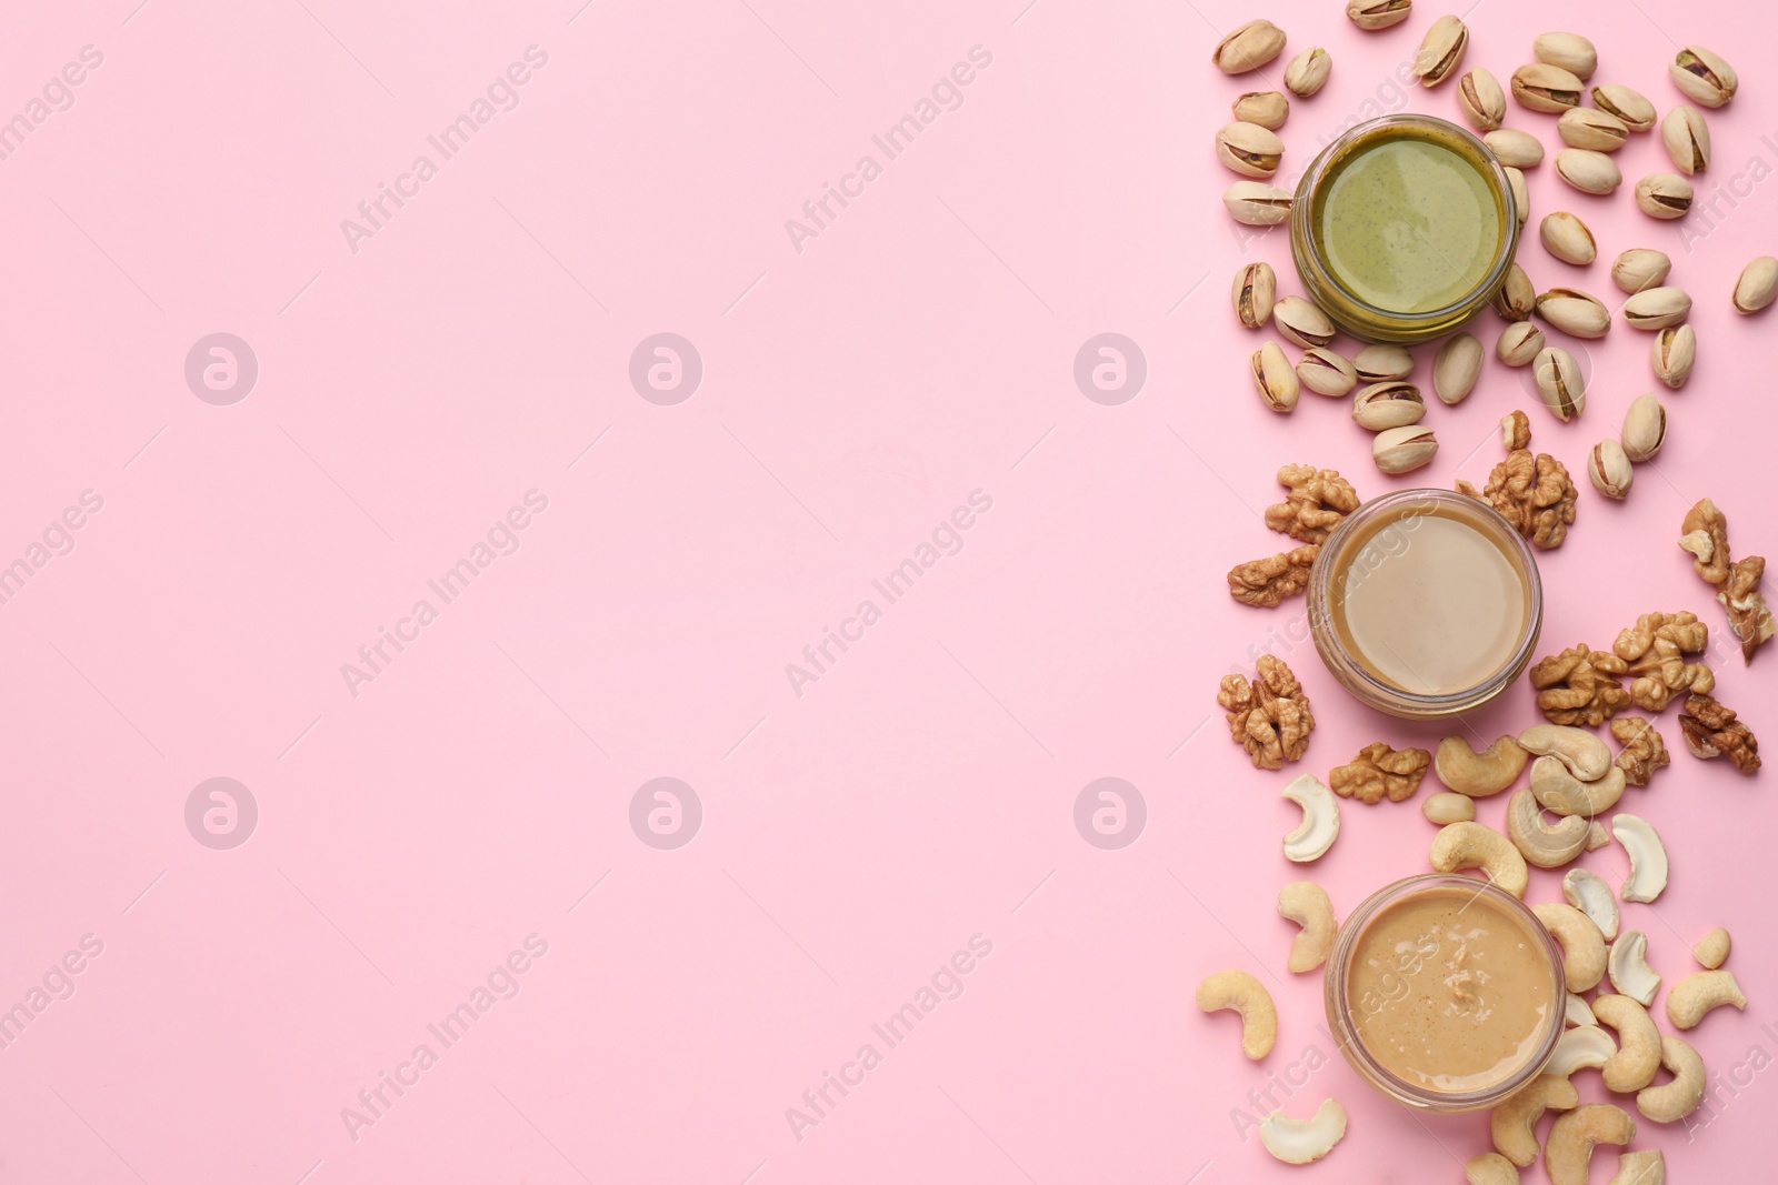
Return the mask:
[(1303, 291), (1364, 341), (1406, 345), (1463, 325), (1506, 282), (1518, 229), (1494, 151), (1431, 115), (1350, 128), (1291, 203)]

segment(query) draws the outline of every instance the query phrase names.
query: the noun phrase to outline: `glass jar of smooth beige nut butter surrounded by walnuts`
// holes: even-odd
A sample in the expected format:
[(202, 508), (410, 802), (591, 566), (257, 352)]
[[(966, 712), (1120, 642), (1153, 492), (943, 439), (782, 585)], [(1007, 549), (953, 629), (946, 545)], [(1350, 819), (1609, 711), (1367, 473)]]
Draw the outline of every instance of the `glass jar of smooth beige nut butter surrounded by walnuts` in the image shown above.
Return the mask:
[(1543, 629), (1531, 547), (1488, 503), (1398, 490), (1334, 528), (1309, 569), (1309, 631), (1328, 672), (1406, 720), (1479, 707), (1526, 670)]

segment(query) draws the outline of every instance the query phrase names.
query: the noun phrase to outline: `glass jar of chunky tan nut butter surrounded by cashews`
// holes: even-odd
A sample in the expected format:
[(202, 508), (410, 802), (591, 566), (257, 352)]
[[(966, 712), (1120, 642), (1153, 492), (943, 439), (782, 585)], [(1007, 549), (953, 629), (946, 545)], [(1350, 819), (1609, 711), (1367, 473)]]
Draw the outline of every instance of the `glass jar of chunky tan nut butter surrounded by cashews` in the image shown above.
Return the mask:
[[(1380, 917), (1389, 924), (1389, 915), (1398, 913), (1399, 908), (1412, 908), (1415, 903), (1444, 908), (1446, 899), (1456, 904), (1458, 915), (1463, 917), (1465, 936), (1460, 940), (1463, 950), (1444, 950), (1437, 931), (1430, 942), (1378, 940), (1367, 943)], [(1399, 917), (1412, 915), (1401, 913)], [(1495, 927), (1476, 936), (1490, 920), (1495, 922)], [(1447, 934), (1442, 936), (1446, 943), (1451, 942)], [(1469, 943), (1483, 949), (1469, 950)], [(1492, 943), (1492, 949), (1483, 943)], [(1495, 1041), (1515, 1043), (1513, 1057), (1494, 1066), (1490, 1075), (1453, 1075), (1447, 1086), (1431, 1086), (1428, 1078), (1438, 1075), (1426, 1073), (1424, 1068), (1412, 1075), (1398, 1073), (1390, 1062), (1399, 1066), (1399, 1054), (1390, 1052), (1382, 1032), (1394, 1020), (1390, 1009), (1412, 1009), (1428, 991), (1456, 990), (1449, 988), (1449, 979), (1437, 977), (1437, 972), (1447, 966), (1447, 963), (1438, 961), (1442, 956), (1449, 954), (1453, 963), (1462, 965), (1495, 956), (1495, 970), (1504, 972), (1501, 956), (1506, 954), (1508, 945), (1517, 947), (1513, 970), (1520, 974), (1518, 991), (1502, 995), (1501, 1007), (1490, 1007), (1485, 1016), (1478, 1018), (1478, 1023), (1517, 1022), (1511, 1030), (1485, 1034)], [(1390, 959), (1383, 972), (1376, 972), (1374, 966), (1360, 966), (1360, 963), (1373, 963), (1382, 947), (1389, 947)], [(1428, 952), (1426, 947), (1435, 949)], [(1364, 958), (1366, 952), (1369, 952), (1369, 959)], [(1566, 1006), (1561, 958), (1556, 938), (1518, 897), (1469, 876), (1437, 872), (1410, 876), (1371, 894), (1341, 924), (1323, 981), (1328, 1029), (1358, 1077), (1406, 1107), (1440, 1114), (1494, 1107), (1543, 1073), (1556, 1052)], [(1433, 977), (1422, 975), (1428, 968), (1435, 972)], [(1353, 986), (1355, 970), (1367, 977), (1364, 986)], [(1534, 998), (1543, 1000), (1542, 1013), (1529, 1004)], [(1518, 1007), (1513, 1007), (1515, 1004)], [(1410, 1032), (1421, 1036), (1433, 1030), (1412, 1029)], [(1433, 1036), (1449, 1034), (1451, 1029), (1438, 1029)], [(1406, 1041), (1412, 1041), (1414, 1036)], [(1424, 1055), (1437, 1061), (1430, 1050)], [(1462, 1055), (1451, 1057), (1454, 1066), (1460, 1066), (1462, 1061)]]

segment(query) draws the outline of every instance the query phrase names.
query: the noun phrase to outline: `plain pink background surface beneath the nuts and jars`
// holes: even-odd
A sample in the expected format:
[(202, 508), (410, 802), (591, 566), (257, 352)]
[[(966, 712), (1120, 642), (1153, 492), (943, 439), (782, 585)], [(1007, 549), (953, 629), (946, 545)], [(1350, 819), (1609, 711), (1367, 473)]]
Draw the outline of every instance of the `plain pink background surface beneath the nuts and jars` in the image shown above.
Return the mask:
[[(5, 115), (82, 46), (103, 53), (0, 160), (0, 561), (82, 490), (103, 497), (0, 615), (0, 1004), (82, 936), (103, 943), (0, 1050), (0, 1181), (1285, 1180), (1230, 1119), (1273, 1073), (1294, 1075), (1291, 1114), (1328, 1094), (1351, 1112), (1317, 1180), (1456, 1181), (1486, 1149), (1485, 1117), (1415, 1121), (1317, 1030), (1319, 977), (1284, 972), (1275, 913), (1303, 872), (1278, 849), (1285, 775), (1229, 743), (1214, 686), (1264, 647), (1285, 656), (1319, 718), (1298, 769), (1323, 776), (1369, 741), (1440, 730), (1348, 704), (1301, 604), (1237, 606), (1223, 572), (1289, 545), (1257, 519), (1284, 462), (1339, 467), (1366, 496), (1479, 483), (1497, 418), (1527, 407), (1579, 476), (1654, 386), (1645, 336), (1563, 343), (1595, 382), (1568, 426), (1490, 355), (1467, 403), (1428, 416), (1437, 462), (1403, 480), (1376, 473), (1341, 402), (1264, 410), (1245, 377), (1261, 336), (1225, 293), (1246, 259), (1296, 282), (1282, 233), (1225, 217), (1211, 137), (1284, 59), (1214, 73), (1227, 5), (135, 2), (14, 11), (0, 37)], [(1483, 0), (1469, 64), (1504, 80), (1549, 11)], [(1437, 5), (1374, 36), (1335, 0), (1264, 12), (1287, 53), (1335, 59), (1294, 103), (1285, 172), (1362, 115), (1454, 117), (1451, 85), (1394, 82)], [(1655, 20), (1561, 7), (1598, 43), (1598, 78), (1662, 112), (1675, 43), (1726, 53), (1742, 94), (1709, 114), (1700, 199), (1755, 160), (1764, 178), (1778, 99), (1753, 48), (1771, 16)], [(533, 44), (548, 64), (519, 105), (439, 163), (427, 137)], [(973, 46), (992, 64), (962, 107), (885, 160), (871, 137)], [(1558, 147), (1552, 117), (1510, 123)], [(420, 153), (437, 176), (354, 252), (341, 220)], [(866, 153), (882, 174), (798, 252), (786, 220)], [(1728, 309), (1746, 259), (1774, 249), (1778, 197), (1744, 178), (1726, 217), (1655, 224), (1629, 188), (1666, 167), (1657, 137), (1620, 163), (1613, 199), (1533, 171), (1536, 213), (1581, 213), (1602, 261), (1570, 268), (1533, 236), (1527, 270), (1614, 302), (1609, 259), (1661, 247), (1703, 357), (1629, 501), (1582, 489), (1543, 558), (1545, 650), (1609, 645), (1650, 609), (1696, 609), (1721, 638), (1673, 547), (1700, 496), (1737, 553), (1778, 547), (1771, 314)], [(1497, 329), (1478, 325), (1490, 350)], [(183, 375), (213, 332), (260, 366), (226, 407)], [(677, 405), (628, 378), (656, 332), (702, 359)], [(1072, 380), (1099, 332), (1147, 359), (1122, 405)], [(354, 696), (341, 664), (528, 490), (548, 510), (517, 551)], [(885, 604), (871, 581), (973, 490), (992, 508), (962, 551)], [(793, 691), (786, 664), (864, 599), (882, 620)], [(1721, 698), (1778, 728), (1778, 657), (1712, 661)], [(1467, 723), (1533, 720), (1517, 688)], [(1703, 766), (1671, 712), (1661, 727), (1673, 767), (1625, 807), (1666, 835), (1673, 881), (1627, 926), (1670, 982), (1693, 940), (1734, 929), (1751, 1004), (1693, 1034), (1730, 1073), (1778, 1050), (1762, 1030), (1778, 807), (1767, 775)], [(229, 851), (185, 826), (213, 776), (258, 803)], [(629, 824), (658, 776), (702, 807), (677, 849)], [(1101, 776), (1147, 805), (1115, 851), (1074, 826)], [(1346, 807), (1307, 871), (1342, 915), (1426, 869), (1419, 801)], [(1584, 863), (1625, 871), (1618, 847)], [(1538, 874), (1531, 897), (1556, 883)], [(439, 1050), (427, 1025), (528, 934), (548, 954), (516, 998), (354, 1139), (341, 1109), (418, 1043)], [(885, 1050), (871, 1025), (973, 934), (992, 954), (962, 995), (798, 1141), (786, 1109), (862, 1043)], [(1227, 965), (1273, 984), (1264, 1064), (1239, 1057), (1232, 1018), (1191, 1006)], [(1305, 1050), (1326, 1059), (1307, 1084)], [(1675, 1180), (1764, 1164), (1778, 1084), (1741, 1078), (1689, 1141), (1645, 1123), (1638, 1146), (1666, 1148)]]

